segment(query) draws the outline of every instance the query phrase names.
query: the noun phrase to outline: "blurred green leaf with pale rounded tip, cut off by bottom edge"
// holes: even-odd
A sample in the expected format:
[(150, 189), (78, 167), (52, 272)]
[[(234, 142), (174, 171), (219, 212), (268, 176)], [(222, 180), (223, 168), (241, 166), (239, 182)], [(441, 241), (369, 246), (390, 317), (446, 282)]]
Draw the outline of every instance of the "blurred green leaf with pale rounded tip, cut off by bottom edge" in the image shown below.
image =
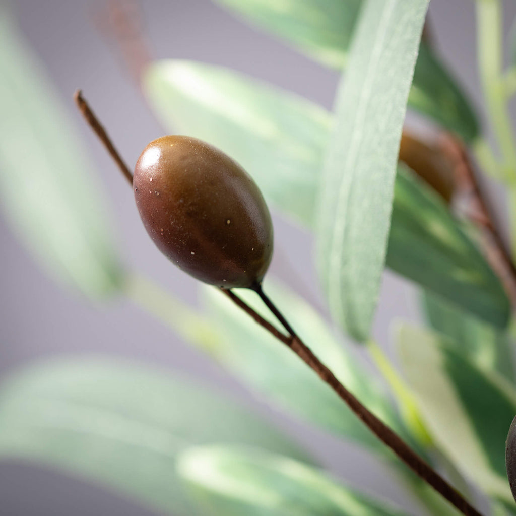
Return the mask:
[(339, 485), (325, 473), (259, 449), (186, 450), (179, 475), (201, 506), (220, 516), (401, 516), (379, 499)]

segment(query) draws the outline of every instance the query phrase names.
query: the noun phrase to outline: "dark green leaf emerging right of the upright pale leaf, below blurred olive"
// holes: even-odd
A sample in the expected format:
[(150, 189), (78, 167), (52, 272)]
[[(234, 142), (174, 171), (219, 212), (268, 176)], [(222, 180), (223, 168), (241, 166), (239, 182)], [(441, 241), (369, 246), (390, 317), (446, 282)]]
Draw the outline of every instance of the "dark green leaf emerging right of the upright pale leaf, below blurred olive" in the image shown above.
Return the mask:
[(484, 257), (443, 200), (399, 167), (387, 265), (498, 327), (510, 304)]

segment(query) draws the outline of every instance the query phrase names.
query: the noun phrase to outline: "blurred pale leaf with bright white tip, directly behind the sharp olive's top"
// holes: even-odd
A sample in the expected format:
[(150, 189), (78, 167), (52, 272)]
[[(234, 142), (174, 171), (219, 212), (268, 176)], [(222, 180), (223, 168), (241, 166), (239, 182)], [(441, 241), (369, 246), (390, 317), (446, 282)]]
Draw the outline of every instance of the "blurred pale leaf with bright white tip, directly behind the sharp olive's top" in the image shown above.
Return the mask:
[(314, 174), (330, 126), (325, 109), (230, 70), (192, 61), (154, 63), (143, 88), (166, 127), (214, 144), (240, 163), (285, 213), (311, 222)]

